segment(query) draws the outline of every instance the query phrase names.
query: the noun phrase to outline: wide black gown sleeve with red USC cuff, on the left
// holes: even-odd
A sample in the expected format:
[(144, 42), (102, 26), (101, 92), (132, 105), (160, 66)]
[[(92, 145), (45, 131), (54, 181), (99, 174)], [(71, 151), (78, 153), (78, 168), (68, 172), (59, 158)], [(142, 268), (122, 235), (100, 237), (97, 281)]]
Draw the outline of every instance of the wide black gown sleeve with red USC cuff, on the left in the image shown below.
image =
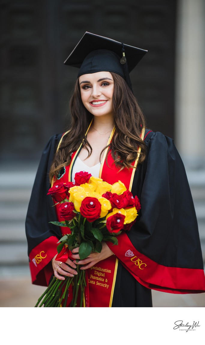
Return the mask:
[(57, 242), (61, 237), (59, 227), (49, 224), (49, 221), (57, 218), (52, 198), (47, 196), (50, 188), (49, 169), (61, 136), (52, 136), (42, 152), (26, 216), (32, 283), (43, 286), (48, 285), (53, 273), (51, 259), (57, 254)]

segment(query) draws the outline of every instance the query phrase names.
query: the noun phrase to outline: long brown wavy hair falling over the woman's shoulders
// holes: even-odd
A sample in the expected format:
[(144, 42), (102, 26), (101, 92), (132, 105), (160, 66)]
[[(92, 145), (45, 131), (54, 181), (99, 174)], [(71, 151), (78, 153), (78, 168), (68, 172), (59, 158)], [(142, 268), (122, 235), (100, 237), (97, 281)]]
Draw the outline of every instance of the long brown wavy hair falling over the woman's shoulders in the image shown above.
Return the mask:
[[(115, 132), (109, 150), (111, 150), (111, 155), (118, 168), (130, 168), (131, 163), (137, 158), (138, 147), (141, 147), (138, 164), (142, 163), (146, 157), (146, 144), (140, 138), (141, 130), (145, 127), (145, 118), (126, 81), (116, 73), (111, 73), (111, 75), (114, 79), (113, 115)], [(85, 133), (93, 115), (90, 114), (81, 101), (79, 78), (70, 99), (70, 114), (71, 125), (69, 132), (63, 137), (54, 157), (49, 173), (50, 181), (53, 176), (58, 177), (59, 171), (64, 166), (70, 164), (72, 152), (76, 151), (81, 143), (87, 149), (88, 156), (92, 152)]]

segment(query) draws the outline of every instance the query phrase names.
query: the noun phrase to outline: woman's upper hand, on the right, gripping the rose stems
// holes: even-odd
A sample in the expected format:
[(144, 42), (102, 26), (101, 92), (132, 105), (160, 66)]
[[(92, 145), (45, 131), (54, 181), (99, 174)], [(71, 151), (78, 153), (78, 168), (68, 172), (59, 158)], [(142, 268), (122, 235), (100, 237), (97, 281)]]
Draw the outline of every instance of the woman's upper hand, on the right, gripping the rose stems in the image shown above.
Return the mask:
[[(77, 265), (84, 265), (83, 267), (81, 267), (80, 269), (87, 269), (90, 268), (92, 266), (94, 266), (95, 264), (97, 264), (97, 262), (107, 259), (109, 256), (114, 255), (114, 253), (111, 251), (111, 249), (107, 246), (106, 242), (102, 242), (103, 248), (101, 250), (100, 253), (90, 253), (90, 255), (83, 260), (79, 260), (78, 262), (76, 262), (75, 259), (80, 259), (79, 255), (76, 254), (78, 253), (78, 249), (79, 248), (74, 248), (72, 250), (73, 255), (72, 258), (74, 259), (74, 263)], [(61, 265), (62, 266), (62, 265)], [(59, 269), (58, 269), (59, 271)]]

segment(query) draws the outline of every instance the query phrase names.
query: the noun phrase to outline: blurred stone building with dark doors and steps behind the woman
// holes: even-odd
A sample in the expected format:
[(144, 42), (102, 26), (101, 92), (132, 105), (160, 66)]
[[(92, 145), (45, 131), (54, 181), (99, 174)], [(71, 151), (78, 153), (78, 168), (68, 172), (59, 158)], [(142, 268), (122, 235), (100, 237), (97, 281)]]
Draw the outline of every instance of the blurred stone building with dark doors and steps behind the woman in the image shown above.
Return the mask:
[(0, 275), (28, 272), (31, 187), (49, 137), (69, 124), (77, 69), (64, 61), (86, 31), (148, 50), (134, 94), (183, 158), (204, 253), (204, 18), (205, 0), (0, 0)]

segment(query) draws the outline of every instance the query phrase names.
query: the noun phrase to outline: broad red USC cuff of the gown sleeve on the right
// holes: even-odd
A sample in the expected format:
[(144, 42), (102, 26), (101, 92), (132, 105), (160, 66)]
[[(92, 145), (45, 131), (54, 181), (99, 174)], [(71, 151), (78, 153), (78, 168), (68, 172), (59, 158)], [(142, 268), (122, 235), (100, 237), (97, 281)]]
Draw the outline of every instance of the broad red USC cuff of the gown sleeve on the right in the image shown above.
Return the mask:
[(107, 245), (130, 274), (150, 289), (176, 294), (205, 292), (203, 269), (159, 265), (138, 252), (125, 232), (118, 236), (118, 245)]

